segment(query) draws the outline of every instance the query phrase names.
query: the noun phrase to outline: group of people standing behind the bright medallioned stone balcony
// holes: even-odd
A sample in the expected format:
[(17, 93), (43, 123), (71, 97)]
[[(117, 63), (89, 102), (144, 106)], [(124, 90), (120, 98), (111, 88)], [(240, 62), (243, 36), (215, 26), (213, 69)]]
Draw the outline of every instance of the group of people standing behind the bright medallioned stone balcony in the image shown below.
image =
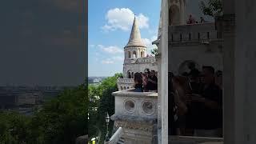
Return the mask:
[(145, 73), (134, 74), (135, 92), (158, 92), (158, 73), (147, 70)]

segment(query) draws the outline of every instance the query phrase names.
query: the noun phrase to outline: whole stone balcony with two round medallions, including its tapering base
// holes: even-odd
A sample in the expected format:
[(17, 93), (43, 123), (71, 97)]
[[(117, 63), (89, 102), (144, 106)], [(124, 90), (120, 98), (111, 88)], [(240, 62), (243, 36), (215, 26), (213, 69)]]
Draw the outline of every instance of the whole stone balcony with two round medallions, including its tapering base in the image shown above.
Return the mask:
[(154, 143), (157, 141), (158, 94), (134, 92), (134, 89), (114, 92), (114, 121), (122, 127), (127, 144)]

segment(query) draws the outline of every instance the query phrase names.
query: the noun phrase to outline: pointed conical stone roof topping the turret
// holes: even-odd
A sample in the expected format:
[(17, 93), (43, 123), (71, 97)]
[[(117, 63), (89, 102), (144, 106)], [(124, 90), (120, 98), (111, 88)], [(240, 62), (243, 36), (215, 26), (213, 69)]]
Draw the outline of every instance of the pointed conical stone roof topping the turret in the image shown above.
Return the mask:
[(130, 39), (129, 39), (129, 42), (127, 43), (126, 47), (127, 46), (146, 47), (144, 42), (142, 42), (141, 33), (138, 29), (138, 22), (137, 22), (137, 19), (136, 19), (135, 16), (134, 16), (134, 24), (133, 24), (133, 27), (132, 27), (131, 32), (130, 32)]

